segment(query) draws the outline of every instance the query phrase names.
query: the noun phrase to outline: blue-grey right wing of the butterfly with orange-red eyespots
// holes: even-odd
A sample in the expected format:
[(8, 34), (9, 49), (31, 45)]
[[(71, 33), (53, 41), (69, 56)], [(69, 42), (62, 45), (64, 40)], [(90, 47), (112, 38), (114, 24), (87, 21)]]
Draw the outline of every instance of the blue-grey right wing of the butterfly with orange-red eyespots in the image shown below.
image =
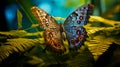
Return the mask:
[(93, 5), (87, 4), (70, 14), (64, 22), (70, 50), (77, 50), (85, 41), (87, 33), (83, 25), (87, 24)]

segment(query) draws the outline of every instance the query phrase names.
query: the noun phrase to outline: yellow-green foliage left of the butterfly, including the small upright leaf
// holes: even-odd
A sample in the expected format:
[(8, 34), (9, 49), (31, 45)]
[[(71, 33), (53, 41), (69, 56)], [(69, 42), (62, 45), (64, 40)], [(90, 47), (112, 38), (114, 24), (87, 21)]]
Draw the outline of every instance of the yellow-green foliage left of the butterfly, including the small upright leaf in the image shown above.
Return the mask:
[[(22, 14), (17, 10), (18, 16), (18, 29), (22, 28)], [(32, 24), (31, 28), (37, 27), (38, 24)], [(37, 38), (32, 38), (35, 37)], [(36, 44), (43, 44), (43, 32), (29, 33), (26, 30), (11, 30), (9, 32), (0, 32), (0, 62), (10, 54), (15, 52), (21, 53), (26, 52)]]

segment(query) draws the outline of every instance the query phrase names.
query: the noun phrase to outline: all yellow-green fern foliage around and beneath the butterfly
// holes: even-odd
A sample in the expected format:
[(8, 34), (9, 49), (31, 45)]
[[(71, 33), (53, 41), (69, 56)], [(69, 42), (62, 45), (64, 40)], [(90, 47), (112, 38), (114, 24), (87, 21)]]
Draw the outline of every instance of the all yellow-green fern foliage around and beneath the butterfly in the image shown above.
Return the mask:
[[(22, 14), (18, 15), (18, 30), (8, 32), (0, 32), (0, 62), (9, 57), (14, 52), (24, 53), (25, 56), (31, 57), (28, 64), (37, 65), (38, 67), (46, 66), (82, 66), (92, 67), (93, 61), (97, 60), (112, 43), (120, 45), (120, 22), (107, 20), (98, 16), (91, 16), (90, 23), (85, 27), (89, 38), (85, 45), (78, 51), (69, 52), (68, 42), (64, 41), (67, 51), (63, 54), (56, 54), (49, 51), (43, 52), (45, 45), (43, 31), (28, 32), (26, 29), (20, 30), (22, 27)], [(57, 20), (65, 20), (65, 18), (54, 17)], [(38, 27), (38, 24), (32, 24), (28, 29)], [(37, 28), (36, 28), (37, 29)], [(4, 41), (3, 41), (4, 40)], [(30, 48), (30, 52), (27, 52)], [(94, 58), (94, 60), (93, 60)]]

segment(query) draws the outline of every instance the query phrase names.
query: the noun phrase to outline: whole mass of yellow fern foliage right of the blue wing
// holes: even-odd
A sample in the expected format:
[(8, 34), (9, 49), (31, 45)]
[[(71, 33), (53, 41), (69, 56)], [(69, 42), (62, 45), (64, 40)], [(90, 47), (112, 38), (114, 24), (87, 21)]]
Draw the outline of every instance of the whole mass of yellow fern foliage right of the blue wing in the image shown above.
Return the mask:
[[(93, 54), (94, 59), (97, 60), (109, 48), (110, 44), (120, 45), (120, 22), (97, 16), (91, 16), (89, 21), (90, 23), (85, 26), (89, 36), (85, 44)], [(104, 25), (99, 25), (101, 23)]]

